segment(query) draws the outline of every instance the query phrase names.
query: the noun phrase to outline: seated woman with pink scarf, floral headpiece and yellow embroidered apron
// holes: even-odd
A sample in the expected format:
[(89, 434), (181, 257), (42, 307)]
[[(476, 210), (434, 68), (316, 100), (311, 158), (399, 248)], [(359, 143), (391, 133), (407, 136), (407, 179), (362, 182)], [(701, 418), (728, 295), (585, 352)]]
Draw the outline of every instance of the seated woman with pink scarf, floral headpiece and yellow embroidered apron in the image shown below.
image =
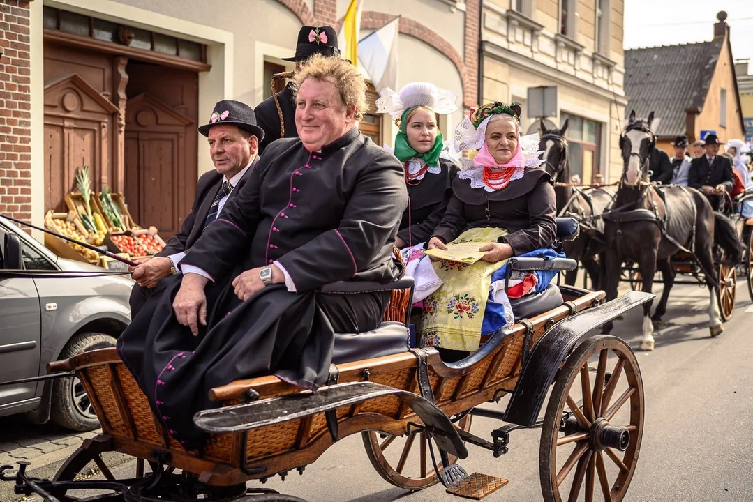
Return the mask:
[(518, 117), (517, 103), (493, 102), (471, 111), (455, 132), (450, 153), (477, 153), (462, 161), (467, 168), (453, 181), (450, 204), (427, 247), (478, 242), (486, 254), (470, 265), (434, 262), (443, 285), (424, 300), (421, 342), (443, 348), (443, 357), (467, 355), (480, 336), (512, 322), (506, 297), (489, 300), (492, 274), (509, 257), (550, 248), (556, 237), (554, 188), (539, 167), (538, 134), (520, 137)]

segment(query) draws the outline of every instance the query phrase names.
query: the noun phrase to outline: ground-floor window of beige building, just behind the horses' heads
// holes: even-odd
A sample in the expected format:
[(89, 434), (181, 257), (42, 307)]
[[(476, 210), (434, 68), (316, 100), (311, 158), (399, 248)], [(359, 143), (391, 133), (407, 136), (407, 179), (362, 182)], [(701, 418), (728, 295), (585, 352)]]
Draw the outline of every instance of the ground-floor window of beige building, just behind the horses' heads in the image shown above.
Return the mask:
[(600, 158), (602, 124), (577, 115), (562, 112), (559, 123), (568, 120), (565, 136), (568, 140), (570, 176), (578, 175), (581, 183), (593, 183), (601, 174)]

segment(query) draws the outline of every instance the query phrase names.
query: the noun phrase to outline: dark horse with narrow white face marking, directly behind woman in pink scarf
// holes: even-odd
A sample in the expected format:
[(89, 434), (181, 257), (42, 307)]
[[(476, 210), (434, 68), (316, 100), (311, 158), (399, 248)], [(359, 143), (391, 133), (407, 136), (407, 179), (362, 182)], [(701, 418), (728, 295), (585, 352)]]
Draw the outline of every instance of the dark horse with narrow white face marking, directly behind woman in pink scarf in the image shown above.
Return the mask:
[[(604, 224), (600, 218), (594, 218), (602, 214), (611, 204), (614, 194), (603, 188), (582, 190), (573, 187), (570, 183), (570, 162), (568, 145), (565, 138), (568, 120), (559, 129), (547, 129), (544, 120), (541, 120), (541, 148), (544, 150), (544, 168), (552, 177), (555, 185), (554, 193), (559, 216), (572, 216), (581, 224), (581, 232), (578, 238), (565, 242), (562, 251), (573, 260), (580, 261), (591, 278), (593, 289), (598, 290), (601, 286), (602, 275), (599, 263), (603, 260), (595, 259), (605, 248)], [(578, 270), (569, 270), (565, 275), (565, 283), (575, 284)]]

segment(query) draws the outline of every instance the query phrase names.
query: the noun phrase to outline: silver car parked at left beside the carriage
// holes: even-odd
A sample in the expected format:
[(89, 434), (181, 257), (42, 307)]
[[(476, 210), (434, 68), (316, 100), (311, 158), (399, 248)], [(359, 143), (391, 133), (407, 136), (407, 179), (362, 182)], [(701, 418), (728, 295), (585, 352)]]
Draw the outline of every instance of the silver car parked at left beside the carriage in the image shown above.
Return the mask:
[[(127, 275), (54, 276), (66, 272), (105, 271), (57, 257), (0, 217), (0, 382), (44, 375), (49, 361), (113, 346), (130, 323)], [(0, 385), (0, 416), (23, 412), (74, 431), (99, 427), (84, 385), (71, 377)]]

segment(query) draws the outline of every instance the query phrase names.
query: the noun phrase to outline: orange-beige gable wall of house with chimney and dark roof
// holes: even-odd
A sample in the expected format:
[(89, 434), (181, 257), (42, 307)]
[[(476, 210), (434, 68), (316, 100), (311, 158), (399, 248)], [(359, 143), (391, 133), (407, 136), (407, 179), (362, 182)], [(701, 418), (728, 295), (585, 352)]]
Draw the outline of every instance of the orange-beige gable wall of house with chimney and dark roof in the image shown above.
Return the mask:
[[(696, 117), (694, 132), (697, 138), (700, 138), (700, 132), (704, 130), (716, 131), (719, 139), (724, 142), (733, 138), (745, 138), (745, 131), (742, 129), (742, 110), (735, 96), (735, 70), (730, 58), (729, 43), (729, 38), (727, 38), (721, 47), (709, 93), (706, 95), (706, 102), (703, 103), (703, 110)], [(725, 126), (721, 125), (722, 89), (727, 91)]]

